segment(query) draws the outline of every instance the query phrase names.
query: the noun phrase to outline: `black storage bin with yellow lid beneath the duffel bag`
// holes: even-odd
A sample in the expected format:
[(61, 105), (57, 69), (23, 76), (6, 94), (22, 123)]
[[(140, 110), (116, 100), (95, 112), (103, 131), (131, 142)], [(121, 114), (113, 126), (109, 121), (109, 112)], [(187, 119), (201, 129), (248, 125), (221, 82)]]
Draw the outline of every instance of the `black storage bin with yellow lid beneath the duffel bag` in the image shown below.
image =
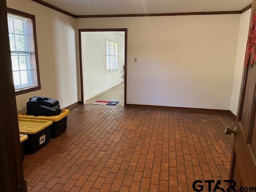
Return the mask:
[(27, 115), (25, 111), (18, 114), (18, 118), (52, 121), (53, 124), (50, 128), (50, 138), (56, 138), (66, 131), (68, 114), (68, 109), (62, 109), (62, 113), (55, 116), (32, 116)]

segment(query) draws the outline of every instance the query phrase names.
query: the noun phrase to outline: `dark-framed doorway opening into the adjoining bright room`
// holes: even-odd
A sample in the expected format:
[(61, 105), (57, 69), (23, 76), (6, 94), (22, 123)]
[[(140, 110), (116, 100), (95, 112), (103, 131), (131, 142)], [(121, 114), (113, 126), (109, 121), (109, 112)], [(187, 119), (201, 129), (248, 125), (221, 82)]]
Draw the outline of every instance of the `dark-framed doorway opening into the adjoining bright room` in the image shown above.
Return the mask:
[(79, 29), (82, 104), (126, 106), (127, 29)]

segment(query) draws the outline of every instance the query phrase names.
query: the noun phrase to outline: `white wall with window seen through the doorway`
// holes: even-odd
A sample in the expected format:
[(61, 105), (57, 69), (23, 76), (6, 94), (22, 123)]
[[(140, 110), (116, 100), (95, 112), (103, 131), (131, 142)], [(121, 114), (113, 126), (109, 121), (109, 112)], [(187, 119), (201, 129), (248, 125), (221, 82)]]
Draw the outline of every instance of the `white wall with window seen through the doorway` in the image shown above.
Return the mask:
[[(118, 70), (106, 72), (105, 40), (118, 42)], [(84, 101), (120, 83), (124, 38), (114, 32), (82, 32)]]

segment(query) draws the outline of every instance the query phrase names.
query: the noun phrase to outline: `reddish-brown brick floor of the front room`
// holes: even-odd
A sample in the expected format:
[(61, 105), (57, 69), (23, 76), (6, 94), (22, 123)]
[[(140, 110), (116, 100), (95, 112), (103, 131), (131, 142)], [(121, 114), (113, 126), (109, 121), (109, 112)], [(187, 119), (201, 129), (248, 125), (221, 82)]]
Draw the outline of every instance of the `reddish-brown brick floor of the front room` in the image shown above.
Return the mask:
[(225, 126), (228, 114), (77, 106), (64, 134), (25, 156), (28, 190), (193, 191), (196, 179), (228, 178)]

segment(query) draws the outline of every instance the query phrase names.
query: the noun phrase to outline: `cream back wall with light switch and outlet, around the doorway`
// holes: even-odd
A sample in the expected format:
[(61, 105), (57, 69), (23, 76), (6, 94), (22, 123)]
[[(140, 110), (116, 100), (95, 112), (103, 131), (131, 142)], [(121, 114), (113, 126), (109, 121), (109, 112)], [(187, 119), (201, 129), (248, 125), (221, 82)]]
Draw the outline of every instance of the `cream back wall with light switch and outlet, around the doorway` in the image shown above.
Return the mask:
[(76, 22), (77, 28), (128, 28), (128, 104), (230, 109), (240, 14)]

